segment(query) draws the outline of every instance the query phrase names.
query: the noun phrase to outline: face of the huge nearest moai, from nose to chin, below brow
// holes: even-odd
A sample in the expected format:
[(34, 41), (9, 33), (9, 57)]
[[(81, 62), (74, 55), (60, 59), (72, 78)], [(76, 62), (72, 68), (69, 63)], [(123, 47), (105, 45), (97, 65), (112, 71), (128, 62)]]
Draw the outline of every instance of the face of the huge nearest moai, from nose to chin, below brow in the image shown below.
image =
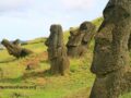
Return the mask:
[[(111, 52), (111, 25), (106, 25), (95, 37), (95, 51), (92, 63), (92, 72), (97, 74), (106, 74), (112, 71), (112, 52)], [(114, 66), (114, 65), (112, 65)]]

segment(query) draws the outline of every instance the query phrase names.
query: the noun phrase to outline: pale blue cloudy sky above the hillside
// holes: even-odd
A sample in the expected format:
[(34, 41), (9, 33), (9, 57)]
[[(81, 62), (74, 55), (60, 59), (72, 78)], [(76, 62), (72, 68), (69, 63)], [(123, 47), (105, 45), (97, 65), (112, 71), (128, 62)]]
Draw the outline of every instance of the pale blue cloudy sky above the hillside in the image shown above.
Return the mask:
[(108, 0), (0, 0), (0, 40), (47, 37), (51, 24), (63, 30), (103, 15)]

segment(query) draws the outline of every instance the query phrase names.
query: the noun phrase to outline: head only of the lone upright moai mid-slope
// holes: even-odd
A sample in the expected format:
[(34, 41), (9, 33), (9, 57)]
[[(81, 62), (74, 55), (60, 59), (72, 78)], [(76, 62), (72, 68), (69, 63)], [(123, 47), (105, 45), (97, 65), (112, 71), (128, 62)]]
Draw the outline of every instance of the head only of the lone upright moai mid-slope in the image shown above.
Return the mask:
[(48, 47), (49, 60), (58, 57), (58, 48), (63, 47), (63, 33), (61, 25), (51, 25), (50, 35), (45, 45)]

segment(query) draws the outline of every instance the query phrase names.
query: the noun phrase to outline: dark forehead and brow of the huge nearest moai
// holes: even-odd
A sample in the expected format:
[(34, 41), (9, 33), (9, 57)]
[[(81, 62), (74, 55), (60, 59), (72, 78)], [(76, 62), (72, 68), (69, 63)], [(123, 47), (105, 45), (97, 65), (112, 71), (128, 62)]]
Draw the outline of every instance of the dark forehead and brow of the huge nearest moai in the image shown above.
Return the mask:
[[(127, 2), (128, 1), (128, 2)], [(130, 4), (129, 4), (130, 3)], [(107, 21), (120, 21), (131, 15), (130, 0), (109, 0), (104, 10), (104, 17)], [(110, 19), (112, 17), (112, 19)]]

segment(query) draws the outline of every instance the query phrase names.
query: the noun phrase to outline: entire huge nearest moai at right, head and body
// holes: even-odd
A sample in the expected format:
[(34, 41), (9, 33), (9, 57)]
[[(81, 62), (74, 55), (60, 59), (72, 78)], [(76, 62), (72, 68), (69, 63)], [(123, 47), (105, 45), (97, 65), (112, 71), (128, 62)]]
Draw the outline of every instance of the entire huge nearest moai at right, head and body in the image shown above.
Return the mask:
[(109, 0), (104, 10), (104, 22), (95, 37), (91, 71), (96, 79), (90, 98), (119, 98), (131, 90), (130, 8), (130, 0)]

